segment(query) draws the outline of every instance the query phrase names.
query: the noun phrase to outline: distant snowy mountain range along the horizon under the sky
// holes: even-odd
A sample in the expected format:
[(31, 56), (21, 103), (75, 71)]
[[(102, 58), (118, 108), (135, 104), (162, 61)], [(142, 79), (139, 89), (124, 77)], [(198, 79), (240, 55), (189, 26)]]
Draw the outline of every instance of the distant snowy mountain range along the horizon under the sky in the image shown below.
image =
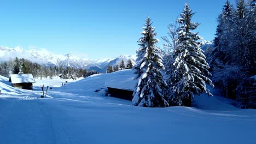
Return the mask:
[(98, 73), (106, 73), (107, 65), (120, 65), (120, 62), (124, 60), (125, 64), (128, 59), (131, 59), (135, 64), (136, 56), (121, 55), (115, 58), (100, 58), (91, 60), (88, 58), (82, 58), (76, 56), (74, 53), (68, 53), (66, 55), (58, 55), (47, 50), (25, 50), (21, 46), (9, 48), (0, 46), (0, 62), (9, 61), (15, 57), (29, 59), (31, 62), (36, 62), (48, 66), (68, 66), (74, 68), (86, 68), (88, 70), (96, 70)]

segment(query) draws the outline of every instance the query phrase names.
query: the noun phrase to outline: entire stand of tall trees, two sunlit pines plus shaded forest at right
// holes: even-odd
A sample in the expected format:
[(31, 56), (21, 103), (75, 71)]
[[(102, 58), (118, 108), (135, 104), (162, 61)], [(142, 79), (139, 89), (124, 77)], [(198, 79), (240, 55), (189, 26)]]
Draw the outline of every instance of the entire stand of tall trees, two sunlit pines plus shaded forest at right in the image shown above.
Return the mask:
[(201, 50), (202, 38), (193, 32), (200, 25), (191, 21), (194, 14), (186, 3), (180, 18), (168, 26), (168, 37), (162, 37), (162, 50), (148, 17), (132, 68), (138, 80), (132, 105), (191, 106), (195, 94), (212, 95), (207, 85), (215, 85), (224, 96), (236, 99), (237, 107), (255, 109), (255, 0), (239, 0), (236, 9), (226, 1), (214, 47), (207, 53)]

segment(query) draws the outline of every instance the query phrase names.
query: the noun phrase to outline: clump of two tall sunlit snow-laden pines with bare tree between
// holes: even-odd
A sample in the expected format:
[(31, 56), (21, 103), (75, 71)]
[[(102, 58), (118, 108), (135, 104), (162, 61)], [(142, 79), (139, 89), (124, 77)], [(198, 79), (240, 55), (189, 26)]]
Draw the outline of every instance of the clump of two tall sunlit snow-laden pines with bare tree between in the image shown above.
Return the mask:
[[(213, 87), (206, 57), (201, 50), (201, 37), (193, 32), (199, 23), (192, 22), (188, 3), (176, 23), (168, 27), (165, 51), (154, 38), (155, 27), (149, 17), (138, 40), (136, 64), (132, 68), (137, 84), (132, 105), (145, 107), (191, 106), (195, 94), (212, 95), (206, 85)], [(169, 40), (171, 39), (171, 40)], [(165, 74), (164, 74), (165, 73)]]

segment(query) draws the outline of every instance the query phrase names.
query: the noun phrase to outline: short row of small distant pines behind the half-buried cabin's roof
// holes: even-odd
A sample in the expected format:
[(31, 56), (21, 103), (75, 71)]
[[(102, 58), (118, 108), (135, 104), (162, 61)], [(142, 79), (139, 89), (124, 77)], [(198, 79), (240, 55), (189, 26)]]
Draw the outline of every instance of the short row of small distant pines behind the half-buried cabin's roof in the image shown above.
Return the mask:
[(131, 69), (133, 67), (132, 61), (131, 59), (128, 59), (127, 64), (125, 65), (124, 60), (122, 59), (120, 65), (114, 65), (114, 67), (112, 67), (112, 65), (107, 65), (107, 70), (106, 73), (113, 73), (115, 71), (118, 70), (123, 70), (123, 69)]

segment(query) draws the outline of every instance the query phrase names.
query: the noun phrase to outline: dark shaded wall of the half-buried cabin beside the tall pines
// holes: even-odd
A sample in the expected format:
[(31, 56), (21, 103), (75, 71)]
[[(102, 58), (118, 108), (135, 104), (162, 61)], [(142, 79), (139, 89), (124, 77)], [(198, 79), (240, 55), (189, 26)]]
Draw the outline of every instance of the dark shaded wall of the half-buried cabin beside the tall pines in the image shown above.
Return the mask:
[(120, 98), (120, 99), (126, 99), (126, 100), (132, 100), (132, 94), (133, 91), (127, 91), (123, 89), (115, 89), (115, 88), (109, 88), (108, 92), (112, 97)]

